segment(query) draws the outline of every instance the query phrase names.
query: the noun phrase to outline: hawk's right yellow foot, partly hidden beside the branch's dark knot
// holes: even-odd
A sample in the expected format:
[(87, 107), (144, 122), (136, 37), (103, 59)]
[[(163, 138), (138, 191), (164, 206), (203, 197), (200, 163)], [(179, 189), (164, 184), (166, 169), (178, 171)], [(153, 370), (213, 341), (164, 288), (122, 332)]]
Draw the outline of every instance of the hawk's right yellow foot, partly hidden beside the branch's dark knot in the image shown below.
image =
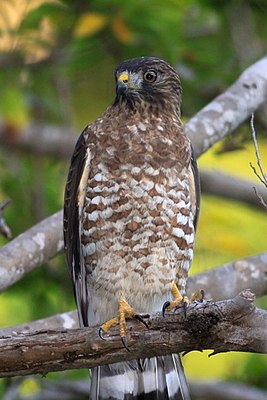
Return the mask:
[(163, 316), (165, 315), (166, 311), (172, 311), (172, 310), (176, 311), (177, 308), (183, 307), (184, 315), (186, 317), (188, 305), (195, 300), (202, 302), (204, 299), (204, 290), (202, 289), (197, 290), (190, 298), (188, 298), (187, 296), (182, 296), (174, 281), (172, 282), (171, 292), (173, 300), (165, 301), (165, 303), (163, 304), (162, 307)]

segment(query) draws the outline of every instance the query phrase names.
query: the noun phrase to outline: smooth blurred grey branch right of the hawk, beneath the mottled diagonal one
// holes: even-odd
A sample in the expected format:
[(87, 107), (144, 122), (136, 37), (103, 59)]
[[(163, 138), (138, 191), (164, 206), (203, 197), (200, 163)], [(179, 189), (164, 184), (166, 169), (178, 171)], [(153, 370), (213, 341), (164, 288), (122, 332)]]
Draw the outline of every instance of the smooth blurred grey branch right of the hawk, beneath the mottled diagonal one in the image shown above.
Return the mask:
[(200, 179), (201, 191), (204, 193), (261, 207), (259, 199), (255, 194), (256, 189), (257, 193), (267, 203), (267, 191), (259, 183), (240, 179), (222, 172), (208, 172), (203, 170), (201, 170)]

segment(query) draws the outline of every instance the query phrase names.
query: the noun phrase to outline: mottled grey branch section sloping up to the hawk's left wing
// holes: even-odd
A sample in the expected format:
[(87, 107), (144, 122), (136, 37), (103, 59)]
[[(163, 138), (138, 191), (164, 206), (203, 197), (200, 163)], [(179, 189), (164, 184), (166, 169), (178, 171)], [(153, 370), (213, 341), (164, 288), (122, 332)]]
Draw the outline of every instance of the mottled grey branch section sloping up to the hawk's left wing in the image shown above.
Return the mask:
[(62, 219), (59, 211), (0, 249), (0, 291), (62, 251)]

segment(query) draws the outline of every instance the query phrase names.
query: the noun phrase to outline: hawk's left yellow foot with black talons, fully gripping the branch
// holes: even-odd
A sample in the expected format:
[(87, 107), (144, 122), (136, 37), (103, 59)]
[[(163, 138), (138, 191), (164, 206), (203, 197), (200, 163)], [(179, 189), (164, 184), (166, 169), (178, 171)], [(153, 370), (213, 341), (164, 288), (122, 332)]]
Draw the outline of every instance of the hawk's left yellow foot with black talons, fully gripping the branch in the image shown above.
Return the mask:
[(101, 339), (104, 339), (103, 333), (107, 333), (110, 330), (110, 328), (119, 325), (120, 338), (122, 344), (128, 351), (130, 351), (127, 345), (126, 319), (137, 319), (138, 321), (142, 322), (142, 324), (144, 324), (147, 327), (147, 329), (149, 329), (143, 317), (140, 314), (136, 314), (134, 309), (127, 303), (125, 298), (121, 296), (119, 300), (118, 317), (112, 318), (109, 321), (102, 324), (101, 327), (99, 328), (99, 336), (101, 337)]

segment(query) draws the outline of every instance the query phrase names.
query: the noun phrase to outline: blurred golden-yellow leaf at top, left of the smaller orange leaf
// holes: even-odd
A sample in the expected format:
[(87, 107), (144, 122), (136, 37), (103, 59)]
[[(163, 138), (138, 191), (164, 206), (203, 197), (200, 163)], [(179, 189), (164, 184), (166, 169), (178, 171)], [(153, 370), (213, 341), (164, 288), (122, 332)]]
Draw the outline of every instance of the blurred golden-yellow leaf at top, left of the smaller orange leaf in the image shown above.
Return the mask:
[(74, 35), (78, 37), (94, 35), (107, 25), (107, 20), (107, 16), (101, 13), (85, 13), (79, 18)]

